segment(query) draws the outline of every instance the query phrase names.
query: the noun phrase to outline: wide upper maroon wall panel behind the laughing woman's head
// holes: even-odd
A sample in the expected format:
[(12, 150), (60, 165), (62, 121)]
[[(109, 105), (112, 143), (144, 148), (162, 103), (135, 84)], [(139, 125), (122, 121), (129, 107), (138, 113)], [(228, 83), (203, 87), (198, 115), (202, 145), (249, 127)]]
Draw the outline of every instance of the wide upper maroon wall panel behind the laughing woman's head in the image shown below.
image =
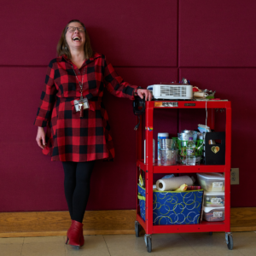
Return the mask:
[(177, 0), (5, 1), (0, 65), (48, 65), (69, 20), (87, 27), (93, 48), (119, 66), (177, 64)]

